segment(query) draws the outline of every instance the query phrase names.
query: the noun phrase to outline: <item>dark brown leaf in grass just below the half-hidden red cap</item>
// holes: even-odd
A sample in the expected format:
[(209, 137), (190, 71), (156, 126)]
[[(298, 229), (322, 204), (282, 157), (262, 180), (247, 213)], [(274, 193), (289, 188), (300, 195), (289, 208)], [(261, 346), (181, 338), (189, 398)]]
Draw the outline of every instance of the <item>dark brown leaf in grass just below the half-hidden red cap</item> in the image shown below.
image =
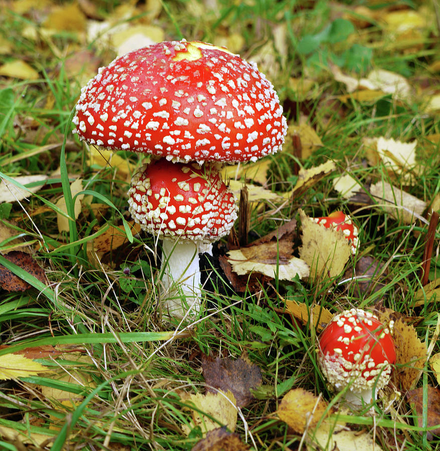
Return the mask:
[(361, 257), (354, 267), (349, 268), (344, 273), (346, 289), (353, 290), (353, 295), (361, 298), (362, 296), (375, 293), (384, 286), (385, 274), (379, 276), (383, 265), (374, 260), (373, 257)]

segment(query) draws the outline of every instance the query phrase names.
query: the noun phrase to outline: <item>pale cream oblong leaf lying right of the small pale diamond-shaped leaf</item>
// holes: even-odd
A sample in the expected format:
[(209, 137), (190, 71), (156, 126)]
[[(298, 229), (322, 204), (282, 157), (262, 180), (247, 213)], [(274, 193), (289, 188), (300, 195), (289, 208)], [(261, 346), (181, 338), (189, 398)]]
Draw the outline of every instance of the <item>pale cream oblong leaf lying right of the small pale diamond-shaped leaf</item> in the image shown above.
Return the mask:
[(371, 185), (370, 193), (380, 208), (404, 224), (412, 224), (426, 208), (423, 200), (386, 182), (379, 181)]

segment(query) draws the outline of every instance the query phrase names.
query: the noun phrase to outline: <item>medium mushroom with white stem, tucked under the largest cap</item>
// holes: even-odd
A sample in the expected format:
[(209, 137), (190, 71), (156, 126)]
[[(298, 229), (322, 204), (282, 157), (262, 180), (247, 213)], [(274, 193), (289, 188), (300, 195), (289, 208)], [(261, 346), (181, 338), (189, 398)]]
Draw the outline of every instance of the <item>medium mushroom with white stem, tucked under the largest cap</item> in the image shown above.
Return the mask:
[(199, 308), (199, 246), (227, 235), (237, 219), (234, 194), (215, 165), (172, 163), (164, 158), (141, 168), (128, 191), (129, 211), (141, 228), (162, 238), (162, 283), (173, 316), (186, 309), (173, 295), (181, 288)]

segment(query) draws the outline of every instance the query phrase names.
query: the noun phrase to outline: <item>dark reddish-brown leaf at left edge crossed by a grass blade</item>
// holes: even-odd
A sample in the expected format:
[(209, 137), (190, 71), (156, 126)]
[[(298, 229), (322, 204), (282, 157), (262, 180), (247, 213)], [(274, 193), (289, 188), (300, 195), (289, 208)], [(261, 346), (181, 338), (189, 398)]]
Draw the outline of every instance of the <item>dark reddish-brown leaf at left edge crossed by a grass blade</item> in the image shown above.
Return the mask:
[[(40, 282), (46, 283), (46, 275), (41, 266), (29, 254), (21, 251), (12, 251), (4, 256), (10, 262), (20, 266)], [(13, 274), (9, 269), (0, 265), (0, 287), (6, 291), (25, 291), (31, 287), (23, 279)]]

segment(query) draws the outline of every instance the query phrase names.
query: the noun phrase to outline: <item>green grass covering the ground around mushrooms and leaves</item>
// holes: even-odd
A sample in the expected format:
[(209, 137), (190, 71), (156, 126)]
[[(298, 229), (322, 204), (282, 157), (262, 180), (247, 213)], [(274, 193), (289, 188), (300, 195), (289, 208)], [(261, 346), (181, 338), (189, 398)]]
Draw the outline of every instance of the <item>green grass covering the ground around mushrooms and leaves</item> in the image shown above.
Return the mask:
[[(6, 224), (15, 238), (32, 243), (34, 258), (48, 278), (44, 286), (0, 253), (0, 264), (31, 285), (24, 292), (0, 289), (2, 344), (10, 345), (11, 351), (29, 346), (64, 349), (70, 345), (82, 350), (82, 360), (78, 360), (78, 353), (71, 357), (63, 354), (56, 360), (39, 359), (73, 375), (68, 380), (45, 374), (4, 382), (0, 393), (2, 449), (190, 450), (201, 436), (196, 428), (189, 436), (182, 431), (182, 425), (192, 426), (190, 410), (185, 408), (181, 395), (204, 391), (202, 353), (233, 358), (245, 354), (261, 368), (266, 395), (242, 409), (236, 429), (242, 440), (248, 439), (251, 446), (255, 443), (262, 450), (298, 449), (301, 434), (275, 415), (282, 397), (291, 388), (303, 388), (316, 395), (322, 393), (323, 399), (335, 407), (341, 399), (327, 388), (317, 365), (319, 332), (309, 324), (293, 324), (290, 317), (281, 315), (284, 299), (308, 306), (318, 304), (332, 313), (352, 306), (373, 308), (383, 302), (385, 307), (412, 317), (409, 322), (421, 341), (428, 346), (434, 340), (432, 354), (440, 352), (436, 342), (439, 300), (427, 299), (418, 307), (414, 303), (415, 292), (421, 288), (426, 221), (403, 225), (380, 207), (351, 202), (333, 189), (333, 179), (347, 169), (367, 186), (381, 180), (428, 204), (438, 199), (440, 151), (438, 143), (432, 144), (426, 136), (440, 133), (439, 116), (438, 112), (425, 113), (426, 98), (418, 88), (429, 81), (432, 93), (438, 93), (438, 71), (428, 70), (430, 64), (440, 61), (440, 32), (434, 22), (422, 33), (422, 45), (406, 52), (397, 44), (393, 47), (379, 20), (362, 30), (353, 27), (349, 36), (344, 35), (348, 25), (342, 19), (343, 13), (363, 2), (344, 2), (331, 9), (322, 1), (219, 0), (216, 12), (203, 10), (203, 4), (196, 0), (194, 3), (199, 5), (202, 17), (191, 14), (190, 2), (164, 2), (153, 23), (163, 29), (165, 39), (183, 36), (223, 44), (230, 35), (239, 34), (243, 38), (240, 54), (249, 60), (258, 59), (259, 51), (269, 43), (275, 55), (273, 67), (263, 65), (260, 69), (274, 73), (271, 81), (289, 123), (306, 118), (322, 139), (323, 147), (307, 159), (295, 157), (292, 143), (286, 142), (284, 152), (271, 157), (268, 185), (281, 193), (292, 189), (297, 180), (295, 163), (310, 168), (332, 159), (337, 167), (337, 173), (327, 175), (283, 207), (253, 209), (252, 236), (263, 236), (293, 217), (298, 219), (298, 208), (314, 216), (336, 209), (351, 212), (361, 228), (362, 247), (346, 269), (352, 269), (361, 257), (371, 256), (386, 267), (383, 285), (373, 293), (359, 293), (355, 283), (341, 282), (343, 276), (315, 283), (275, 278), (261, 283), (258, 290), (250, 282), (244, 294), (230, 296), (223, 290), (228, 281), (219, 275), (214, 283), (218, 289), (203, 293), (203, 299), (209, 300), (209, 310), (181, 323), (167, 318), (157, 302), (159, 262), (154, 255), (155, 243), (146, 234), (132, 233), (127, 222), (126, 177), (109, 166), (90, 166), (86, 145), (71, 133), (81, 83), (68, 70), (68, 59), (80, 50), (90, 50), (101, 65), (106, 65), (114, 57), (113, 51), (86, 42), (75, 31), (38, 39), (24, 36), (23, 29), (35, 25), (43, 13), (12, 11), (12, 3), (8, 3), (0, 15), (0, 37), (10, 50), (0, 54), (0, 63), (21, 57), (38, 71), (39, 78), (0, 78), (0, 175), (7, 180), (25, 174), (55, 175), (29, 200), (0, 204), (0, 226)], [(97, 14), (104, 17), (118, 6), (116, 2), (96, 4)], [(419, 8), (418, 3), (405, 4)], [(432, 8), (429, 5), (423, 2), (424, 8)], [(391, 3), (374, 9), (386, 6), (391, 10)], [(134, 17), (146, 20), (147, 13), (139, 8)], [(280, 53), (275, 33), (285, 33), (286, 54)], [(387, 45), (379, 45), (383, 42)], [(403, 101), (383, 95), (369, 102), (349, 99), (342, 103), (338, 96), (347, 91), (334, 80), (328, 66), (330, 59), (343, 72), (357, 77), (366, 76), (373, 68), (395, 71), (415, 83), (416, 95)], [(88, 73), (87, 64), (90, 61), (85, 61), (81, 71)], [(292, 90), (291, 78), (312, 79), (314, 87), (297, 94)], [(381, 164), (368, 165), (363, 138), (379, 136), (405, 142), (418, 140), (424, 170), (416, 184), (407, 186), (401, 175), (392, 177)], [(118, 154), (133, 167), (139, 166), (142, 159), (128, 152)], [(74, 220), (75, 196), (70, 183), (78, 177), (83, 179), (86, 201), (101, 204), (101, 212), (84, 206)], [(57, 227), (56, 202), (61, 196), (66, 199), (70, 217), (69, 231), (63, 233)], [(94, 259), (90, 246), (113, 225), (126, 235), (124, 245)], [(438, 278), (440, 270), (439, 238), (437, 228), (431, 281)], [(2, 250), (15, 243), (0, 237)], [(295, 238), (294, 245), (297, 252), (299, 238)], [(125, 274), (124, 268), (129, 268), (130, 273)], [(0, 356), (8, 352), (1, 349)], [(81, 383), (75, 381), (78, 374)], [(422, 387), (426, 396), (428, 385), (436, 384), (435, 374), (425, 362), (417, 387)], [(76, 396), (75, 404), (47, 397), (47, 390), (55, 388)], [(427, 439), (426, 407), (421, 426), (405, 393), (392, 408), (382, 407), (378, 403), (373, 416), (342, 411), (341, 418), (352, 430), (374, 429), (376, 443), (386, 451), (396, 446), (440, 449), (438, 436)], [(25, 441), (23, 438), (15, 441), (2, 432), (4, 426), (23, 432), (28, 437), (26, 444), (19, 444)], [(47, 441), (37, 434), (43, 434)]]

